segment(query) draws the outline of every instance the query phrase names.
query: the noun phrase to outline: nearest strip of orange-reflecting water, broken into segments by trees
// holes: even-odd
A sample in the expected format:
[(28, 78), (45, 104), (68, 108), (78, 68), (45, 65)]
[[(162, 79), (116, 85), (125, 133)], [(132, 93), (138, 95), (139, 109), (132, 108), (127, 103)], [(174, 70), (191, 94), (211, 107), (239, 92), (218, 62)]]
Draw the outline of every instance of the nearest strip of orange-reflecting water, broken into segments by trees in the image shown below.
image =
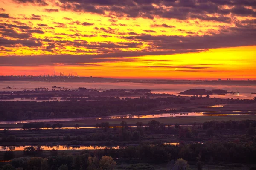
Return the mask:
[[(163, 143), (164, 145), (179, 145), (180, 143)], [(0, 151), (23, 151), (27, 146), (0, 146)], [(36, 146), (34, 146), (36, 147)], [(70, 145), (57, 145), (57, 146), (41, 146), (42, 150), (102, 150), (102, 149), (122, 149), (127, 146), (70, 146)]]

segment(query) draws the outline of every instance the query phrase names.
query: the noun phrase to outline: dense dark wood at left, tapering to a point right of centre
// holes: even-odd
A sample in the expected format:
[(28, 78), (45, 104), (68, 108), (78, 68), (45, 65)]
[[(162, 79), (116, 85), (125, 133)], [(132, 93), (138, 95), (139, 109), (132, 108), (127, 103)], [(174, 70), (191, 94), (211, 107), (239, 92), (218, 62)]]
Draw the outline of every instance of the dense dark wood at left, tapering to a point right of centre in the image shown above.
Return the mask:
[(1, 121), (36, 118), (100, 117), (156, 108), (158, 99), (126, 98), (104, 101), (0, 101)]

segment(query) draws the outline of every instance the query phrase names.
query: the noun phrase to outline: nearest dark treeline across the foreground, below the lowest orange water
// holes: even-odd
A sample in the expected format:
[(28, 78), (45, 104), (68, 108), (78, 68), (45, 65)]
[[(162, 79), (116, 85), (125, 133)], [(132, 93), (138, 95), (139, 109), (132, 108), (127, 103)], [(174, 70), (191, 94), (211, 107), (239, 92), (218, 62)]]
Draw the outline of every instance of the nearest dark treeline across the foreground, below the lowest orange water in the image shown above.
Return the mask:
[[(9, 155), (11, 155), (10, 152)], [(6, 152), (6, 153), (7, 153)], [(163, 145), (163, 144), (142, 144), (137, 146), (127, 146), (121, 149), (105, 149), (85, 151), (85, 154), (79, 155), (58, 155), (57, 150), (52, 150), (51, 155), (47, 158), (15, 158), (10, 164), (15, 168), (30, 168), (37, 167), (38, 170), (58, 170), (62, 165), (66, 165), (65, 170), (98, 170), (101, 167), (100, 160), (104, 156), (108, 156), (105, 160), (106, 164), (111, 164), (114, 168), (115, 162), (137, 162), (137, 163), (155, 163), (166, 164), (172, 160), (183, 158), (189, 162), (197, 162), (201, 164), (227, 164), (233, 163), (234, 166), (240, 164), (255, 164), (256, 158), (256, 143), (236, 143), (236, 142), (214, 142), (207, 141), (206, 143), (179, 144), (179, 145)], [(24, 151), (26, 156), (26, 153)], [(40, 153), (42, 154), (42, 153)], [(32, 156), (32, 155), (30, 155)], [(35, 156), (40, 156), (35, 153)], [(113, 159), (112, 159), (113, 158)], [(29, 161), (36, 159), (38, 161)], [(30, 163), (33, 163), (32, 166)], [(44, 166), (44, 168), (42, 167)], [(240, 165), (241, 166), (241, 165)], [(94, 169), (91, 169), (93, 167)], [(84, 168), (84, 169), (83, 169)], [(110, 167), (109, 167), (110, 168)], [(34, 170), (31, 169), (31, 170)], [(104, 170), (112, 170), (105, 169)], [(62, 169), (61, 169), (62, 170)]]

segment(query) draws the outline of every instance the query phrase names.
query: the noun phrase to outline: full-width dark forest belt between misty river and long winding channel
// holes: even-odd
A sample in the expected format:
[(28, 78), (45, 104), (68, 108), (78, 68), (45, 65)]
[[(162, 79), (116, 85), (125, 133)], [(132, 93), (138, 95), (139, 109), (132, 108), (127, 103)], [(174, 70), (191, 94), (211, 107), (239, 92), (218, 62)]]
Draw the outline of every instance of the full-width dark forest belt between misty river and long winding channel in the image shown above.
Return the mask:
[(0, 121), (15, 121), (42, 118), (75, 118), (75, 117), (101, 117), (119, 115), (122, 113), (141, 112), (155, 109), (161, 105), (171, 106), (179, 104), (183, 112), (191, 112), (186, 104), (209, 99), (212, 104), (217, 101), (223, 104), (252, 104), (255, 100), (249, 99), (216, 99), (202, 96), (190, 98), (157, 97), (157, 98), (119, 98), (119, 97), (89, 97), (88, 99), (70, 101), (0, 101)]

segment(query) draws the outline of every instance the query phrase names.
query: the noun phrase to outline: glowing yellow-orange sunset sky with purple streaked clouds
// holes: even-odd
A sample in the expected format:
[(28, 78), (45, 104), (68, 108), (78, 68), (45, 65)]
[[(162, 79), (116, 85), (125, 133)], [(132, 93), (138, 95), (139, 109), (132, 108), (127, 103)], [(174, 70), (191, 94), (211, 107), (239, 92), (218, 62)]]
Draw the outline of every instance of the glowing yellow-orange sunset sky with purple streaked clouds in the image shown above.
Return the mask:
[(0, 0), (0, 75), (256, 79), (256, 0)]

